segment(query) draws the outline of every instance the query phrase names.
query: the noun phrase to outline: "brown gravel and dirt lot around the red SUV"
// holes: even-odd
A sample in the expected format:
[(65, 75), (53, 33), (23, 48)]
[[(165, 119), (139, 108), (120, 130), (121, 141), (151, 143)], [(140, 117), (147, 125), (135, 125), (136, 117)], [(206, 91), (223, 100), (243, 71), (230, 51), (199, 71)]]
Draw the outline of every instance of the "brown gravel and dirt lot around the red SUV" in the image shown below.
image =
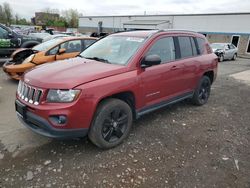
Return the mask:
[(16, 83), (1, 72), (0, 187), (250, 187), (250, 83), (231, 77), (250, 70), (250, 60), (219, 69), (207, 105), (182, 102), (144, 116), (108, 151), (24, 128)]

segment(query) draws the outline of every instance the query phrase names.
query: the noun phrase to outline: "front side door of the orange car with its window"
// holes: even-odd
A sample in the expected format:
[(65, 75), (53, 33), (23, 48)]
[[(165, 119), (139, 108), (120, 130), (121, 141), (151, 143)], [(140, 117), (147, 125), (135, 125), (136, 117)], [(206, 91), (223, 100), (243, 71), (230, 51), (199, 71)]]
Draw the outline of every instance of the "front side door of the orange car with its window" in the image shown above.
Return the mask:
[[(65, 49), (62, 53), (60, 49)], [(76, 57), (82, 51), (81, 40), (71, 40), (60, 45), (60, 49), (56, 55), (56, 60), (63, 60)]]

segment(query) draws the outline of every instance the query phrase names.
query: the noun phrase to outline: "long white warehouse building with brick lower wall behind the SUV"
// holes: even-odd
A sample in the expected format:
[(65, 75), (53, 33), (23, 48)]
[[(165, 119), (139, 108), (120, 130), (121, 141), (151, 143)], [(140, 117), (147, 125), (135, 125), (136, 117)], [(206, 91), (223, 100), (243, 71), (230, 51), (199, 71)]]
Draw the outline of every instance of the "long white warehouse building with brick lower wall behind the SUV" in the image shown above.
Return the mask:
[(250, 57), (250, 13), (84, 16), (79, 31), (116, 32), (139, 29), (187, 29), (206, 35), (213, 42), (232, 42), (238, 55)]

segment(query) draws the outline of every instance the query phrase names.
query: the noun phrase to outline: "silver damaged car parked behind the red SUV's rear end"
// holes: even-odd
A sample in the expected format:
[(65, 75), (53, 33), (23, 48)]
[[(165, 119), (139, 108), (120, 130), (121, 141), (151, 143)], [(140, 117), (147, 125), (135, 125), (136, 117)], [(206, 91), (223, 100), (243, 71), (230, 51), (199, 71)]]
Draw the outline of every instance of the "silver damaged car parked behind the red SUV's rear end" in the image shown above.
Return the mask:
[(238, 48), (230, 43), (212, 43), (213, 52), (218, 56), (219, 61), (236, 60)]

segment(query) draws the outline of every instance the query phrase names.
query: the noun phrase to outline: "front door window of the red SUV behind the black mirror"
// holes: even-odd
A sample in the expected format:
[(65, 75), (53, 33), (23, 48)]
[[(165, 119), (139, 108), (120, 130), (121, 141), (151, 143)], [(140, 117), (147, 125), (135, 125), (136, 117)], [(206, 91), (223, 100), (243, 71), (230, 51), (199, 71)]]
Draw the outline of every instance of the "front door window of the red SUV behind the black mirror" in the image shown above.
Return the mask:
[(175, 47), (173, 37), (159, 39), (153, 44), (146, 55), (159, 55), (161, 63), (166, 63), (175, 59)]

